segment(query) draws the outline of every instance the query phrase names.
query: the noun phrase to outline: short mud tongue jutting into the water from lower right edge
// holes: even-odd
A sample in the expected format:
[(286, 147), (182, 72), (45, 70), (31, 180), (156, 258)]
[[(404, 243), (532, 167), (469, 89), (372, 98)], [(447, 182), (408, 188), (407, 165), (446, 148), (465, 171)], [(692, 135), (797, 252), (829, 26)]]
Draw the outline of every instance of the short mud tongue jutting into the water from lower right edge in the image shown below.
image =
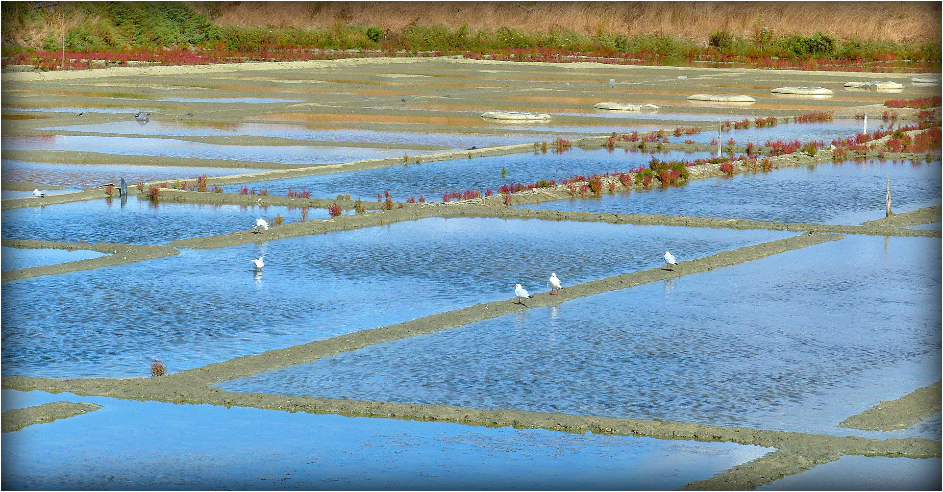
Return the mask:
[(904, 429), (940, 411), (940, 382), (924, 386), (897, 400), (880, 402), (872, 408), (846, 418), (839, 427), (866, 431)]

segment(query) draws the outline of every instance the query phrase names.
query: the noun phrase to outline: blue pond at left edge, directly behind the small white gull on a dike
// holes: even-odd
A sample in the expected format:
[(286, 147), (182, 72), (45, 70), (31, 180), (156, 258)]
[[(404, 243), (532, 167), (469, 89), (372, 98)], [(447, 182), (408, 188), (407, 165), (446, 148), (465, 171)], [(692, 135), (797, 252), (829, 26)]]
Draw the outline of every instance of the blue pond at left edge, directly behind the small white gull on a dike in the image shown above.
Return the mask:
[[(3, 237), (9, 239), (163, 244), (245, 231), (256, 226), (257, 218), (273, 224), (278, 214), (286, 223), (298, 221), (301, 208), (152, 203), (132, 196), (124, 201), (113, 198), (12, 208), (0, 217)], [(308, 220), (326, 218), (326, 208), (308, 208)]]

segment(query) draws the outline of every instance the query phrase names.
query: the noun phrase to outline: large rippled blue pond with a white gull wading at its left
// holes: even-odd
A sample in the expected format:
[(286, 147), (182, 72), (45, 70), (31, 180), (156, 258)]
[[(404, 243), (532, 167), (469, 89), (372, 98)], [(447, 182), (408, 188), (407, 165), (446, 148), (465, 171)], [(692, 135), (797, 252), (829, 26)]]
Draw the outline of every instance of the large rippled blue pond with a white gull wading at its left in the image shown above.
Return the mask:
[[(63, 205), (64, 206), (64, 205)], [(4, 223), (7, 223), (4, 221)], [(2, 286), (5, 374), (133, 376), (386, 326), (474, 303), (786, 238), (734, 231), (423, 219), (17, 280)], [(587, 240), (592, 238), (592, 240)], [(264, 271), (250, 260), (264, 256)], [(119, 280), (120, 279), (120, 280)], [(117, 280), (117, 281), (116, 281)]]

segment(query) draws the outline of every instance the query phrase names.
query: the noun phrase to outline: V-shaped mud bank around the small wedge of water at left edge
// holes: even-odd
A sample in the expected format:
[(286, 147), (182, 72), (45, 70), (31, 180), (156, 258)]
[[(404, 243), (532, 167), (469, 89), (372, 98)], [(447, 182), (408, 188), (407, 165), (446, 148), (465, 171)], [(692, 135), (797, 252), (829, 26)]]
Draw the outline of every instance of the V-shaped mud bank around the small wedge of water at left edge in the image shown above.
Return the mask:
[(41, 275), (56, 275), (68, 271), (94, 270), (102, 267), (114, 267), (133, 263), (136, 261), (160, 258), (163, 256), (173, 256), (180, 254), (174, 248), (166, 246), (148, 246), (141, 244), (124, 244), (97, 242), (93, 244), (82, 244), (74, 242), (43, 241), (38, 239), (4, 239), (4, 246), (10, 248), (29, 248), (29, 249), (57, 249), (57, 250), (90, 250), (99, 253), (106, 253), (105, 256), (98, 258), (88, 258), (55, 265), (45, 265), (41, 267), (31, 267), (22, 270), (11, 270), (0, 273), (0, 279), (3, 282), (11, 280), (20, 280), (24, 278), (39, 277)]

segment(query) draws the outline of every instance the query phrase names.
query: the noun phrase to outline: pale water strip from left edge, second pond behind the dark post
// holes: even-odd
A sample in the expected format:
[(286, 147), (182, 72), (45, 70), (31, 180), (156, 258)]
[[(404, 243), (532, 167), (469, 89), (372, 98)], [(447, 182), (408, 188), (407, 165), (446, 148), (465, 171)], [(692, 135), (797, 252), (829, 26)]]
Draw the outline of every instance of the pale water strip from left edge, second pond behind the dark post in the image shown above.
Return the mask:
[[(233, 137), (238, 139), (238, 137)], [(316, 145), (223, 145), (178, 139), (57, 135), (53, 137), (3, 137), (6, 150), (70, 150), (118, 156), (166, 156), (230, 159), (281, 164), (326, 164), (355, 160), (402, 157), (403, 150), (319, 147)], [(410, 155), (429, 151), (409, 150)]]

